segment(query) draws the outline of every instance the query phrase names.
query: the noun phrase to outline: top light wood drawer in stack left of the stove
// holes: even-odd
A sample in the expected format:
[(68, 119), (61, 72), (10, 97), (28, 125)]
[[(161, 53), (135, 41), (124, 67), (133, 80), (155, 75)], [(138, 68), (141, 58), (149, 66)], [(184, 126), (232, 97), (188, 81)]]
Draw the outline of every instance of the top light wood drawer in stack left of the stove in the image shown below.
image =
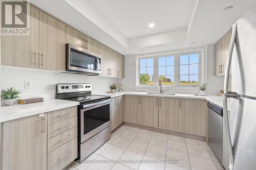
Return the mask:
[(47, 122), (51, 125), (74, 116), (77, 116), (77, 106), (49, 112)]

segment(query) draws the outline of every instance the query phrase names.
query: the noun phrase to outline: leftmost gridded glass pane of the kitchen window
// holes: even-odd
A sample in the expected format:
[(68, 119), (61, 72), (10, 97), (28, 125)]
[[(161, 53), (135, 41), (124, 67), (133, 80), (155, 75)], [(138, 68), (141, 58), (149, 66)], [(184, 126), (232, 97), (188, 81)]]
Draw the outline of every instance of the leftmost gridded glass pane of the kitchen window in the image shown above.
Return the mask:
[(154, 58), (140, 59), (140, 84), (153, 85)]

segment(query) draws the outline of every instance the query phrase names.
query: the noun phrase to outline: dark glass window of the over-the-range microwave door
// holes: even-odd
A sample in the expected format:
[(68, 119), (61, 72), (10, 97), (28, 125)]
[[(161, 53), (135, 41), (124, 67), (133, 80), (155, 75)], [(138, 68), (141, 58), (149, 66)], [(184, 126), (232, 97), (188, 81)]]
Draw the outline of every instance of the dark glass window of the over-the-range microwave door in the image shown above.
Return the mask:
[(71, 48), (70, 65), (74, 67), (96, 70), (96, 57)]

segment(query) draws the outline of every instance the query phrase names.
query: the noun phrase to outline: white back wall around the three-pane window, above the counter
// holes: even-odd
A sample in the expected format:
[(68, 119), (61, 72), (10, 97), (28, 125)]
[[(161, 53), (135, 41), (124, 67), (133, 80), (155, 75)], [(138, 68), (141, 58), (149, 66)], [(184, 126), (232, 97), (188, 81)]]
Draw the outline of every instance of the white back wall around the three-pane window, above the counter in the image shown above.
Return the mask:
[[(224, 77), (215, 77), (214, 76), (214, 45), (207, 45), (207, 94), (219, 94), (220, 90), (223, 89), (223, 83), (224, 83)], [(134, 55), (125, 56), (125, 62), (124, 62), (124, 69), (125, 69), (125, 79), (121, 81), (123, 84), (123, 88), (125, 91), (152, 91), (152, 92), (158, 92), (159, 87), (156, 88), (136, 88), (134, 87)], [(164, 89), (164, 87), (163, 87)], [(164, 89), (165, 92), (170, 93), (199, 93), (199, 88), (176, 88), (176, 89)]]

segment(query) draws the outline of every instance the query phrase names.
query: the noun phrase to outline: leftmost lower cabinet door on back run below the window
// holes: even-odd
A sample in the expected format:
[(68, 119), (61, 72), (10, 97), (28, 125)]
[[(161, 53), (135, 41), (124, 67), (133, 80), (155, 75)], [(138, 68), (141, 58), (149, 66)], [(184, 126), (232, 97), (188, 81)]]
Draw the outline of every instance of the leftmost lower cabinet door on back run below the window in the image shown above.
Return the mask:
[(141, 125), (141, 96), (123, 96), (123, 122)]

